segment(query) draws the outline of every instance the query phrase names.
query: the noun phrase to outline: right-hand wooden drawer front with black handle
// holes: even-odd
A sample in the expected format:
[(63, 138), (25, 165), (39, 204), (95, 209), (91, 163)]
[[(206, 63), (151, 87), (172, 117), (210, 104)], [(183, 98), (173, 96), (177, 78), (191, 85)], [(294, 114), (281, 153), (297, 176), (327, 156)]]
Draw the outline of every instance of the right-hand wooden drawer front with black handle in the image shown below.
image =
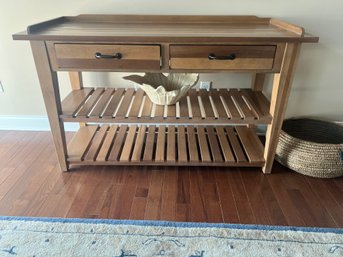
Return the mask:
[(269, 70), (276, 46), (171, 45), (170, 69)]

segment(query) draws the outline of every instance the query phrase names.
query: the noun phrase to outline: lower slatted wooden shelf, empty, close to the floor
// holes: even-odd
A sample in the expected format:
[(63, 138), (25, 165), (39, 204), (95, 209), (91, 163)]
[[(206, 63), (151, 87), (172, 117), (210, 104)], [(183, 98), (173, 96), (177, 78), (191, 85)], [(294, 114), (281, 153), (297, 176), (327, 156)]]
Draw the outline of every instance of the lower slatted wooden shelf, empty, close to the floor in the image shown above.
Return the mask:
[(78, 165), (256, 166), (263, 145), (246, 126), (90, 125), (68, 145)]

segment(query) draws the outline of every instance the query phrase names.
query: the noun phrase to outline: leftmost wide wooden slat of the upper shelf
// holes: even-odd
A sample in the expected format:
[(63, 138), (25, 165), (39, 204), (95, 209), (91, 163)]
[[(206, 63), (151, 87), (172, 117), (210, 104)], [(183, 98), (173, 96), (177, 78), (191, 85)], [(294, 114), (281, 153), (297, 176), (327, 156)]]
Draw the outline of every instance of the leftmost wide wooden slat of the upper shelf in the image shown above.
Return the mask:
[(73, 90), (63, 101), (62, 101), (62, 112), (64, 115), (74, 116), (81, 105), (87, 100), (89, 95), (93, 93), (94, 88), (84, 88)]

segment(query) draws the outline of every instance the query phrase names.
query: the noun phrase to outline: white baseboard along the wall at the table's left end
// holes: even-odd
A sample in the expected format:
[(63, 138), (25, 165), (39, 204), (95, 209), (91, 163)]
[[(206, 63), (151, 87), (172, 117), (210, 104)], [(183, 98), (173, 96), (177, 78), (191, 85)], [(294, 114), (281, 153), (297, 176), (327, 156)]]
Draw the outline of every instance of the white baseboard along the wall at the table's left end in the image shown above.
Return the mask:
[[(77, 131), (78, 123), (64, 123), (66, 131)], [(0, 116), (0, 130), (50, 131), (46, 116)]]

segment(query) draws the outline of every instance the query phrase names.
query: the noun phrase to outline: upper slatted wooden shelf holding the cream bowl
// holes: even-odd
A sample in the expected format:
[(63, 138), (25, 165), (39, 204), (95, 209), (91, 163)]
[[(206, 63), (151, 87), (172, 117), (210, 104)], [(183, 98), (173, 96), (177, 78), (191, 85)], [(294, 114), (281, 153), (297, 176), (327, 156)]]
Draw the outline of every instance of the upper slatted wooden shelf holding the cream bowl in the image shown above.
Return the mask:
[(270, 103), (251, 89), (188, 92), (175, 105), (153, 104), (141, 89), (83, 88), (62, 102), (64, 121), (105, 123), (269, 124)]

